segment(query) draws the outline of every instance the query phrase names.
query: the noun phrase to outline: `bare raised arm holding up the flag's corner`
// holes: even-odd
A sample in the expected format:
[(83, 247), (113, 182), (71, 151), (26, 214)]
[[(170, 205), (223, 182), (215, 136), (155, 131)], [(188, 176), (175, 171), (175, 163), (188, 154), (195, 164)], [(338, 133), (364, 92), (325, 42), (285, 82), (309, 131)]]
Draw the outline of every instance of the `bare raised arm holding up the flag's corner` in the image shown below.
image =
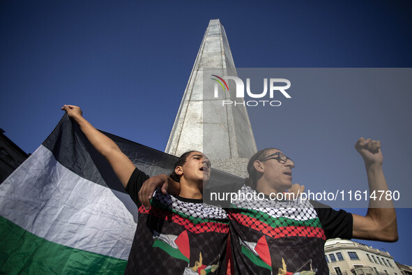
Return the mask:
[(61, 110), (66, 111), (68, 116), (79, 124), (80, 129), (84, 135), (86, 135), (89, 142), (107, 159), (107, 161), (109, 161), (109, 164), (112, 166), (114, 173), (121, 181), (121, 184), (126, 187), (130, 175), (136, 168), (132, 161), (123, 154), (119, 149), (119, 146), (117, 146), (113, 140), (100, 133), (100, 131), (94, 128), (89, 121), (84, 119), (82, 116), (83, 112), (79, 107), (74, 105), (63, 105)]

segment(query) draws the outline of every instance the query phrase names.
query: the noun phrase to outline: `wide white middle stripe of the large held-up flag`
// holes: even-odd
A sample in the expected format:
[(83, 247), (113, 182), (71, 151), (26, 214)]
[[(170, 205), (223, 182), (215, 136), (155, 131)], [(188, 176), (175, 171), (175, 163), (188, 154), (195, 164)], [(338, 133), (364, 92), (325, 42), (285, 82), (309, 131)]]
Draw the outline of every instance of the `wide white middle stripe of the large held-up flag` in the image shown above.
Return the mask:
[(0, 215), (48, 241), (123, 260), (137, 223), (129, 195), (79, 177), (43, 145), (0, 185)]

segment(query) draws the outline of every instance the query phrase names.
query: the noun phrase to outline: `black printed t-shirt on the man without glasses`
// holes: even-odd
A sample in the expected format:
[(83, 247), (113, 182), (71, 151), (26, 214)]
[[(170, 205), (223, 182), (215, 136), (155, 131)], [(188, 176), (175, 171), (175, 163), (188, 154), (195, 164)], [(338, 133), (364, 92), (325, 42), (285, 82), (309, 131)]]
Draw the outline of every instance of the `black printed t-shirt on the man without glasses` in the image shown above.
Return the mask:
[(160, 191), (146, 210), (137, 195), (146, 179), (136, 169), (126, 186), (139, 217), (125, 274), (225, 274), (226, 211)]

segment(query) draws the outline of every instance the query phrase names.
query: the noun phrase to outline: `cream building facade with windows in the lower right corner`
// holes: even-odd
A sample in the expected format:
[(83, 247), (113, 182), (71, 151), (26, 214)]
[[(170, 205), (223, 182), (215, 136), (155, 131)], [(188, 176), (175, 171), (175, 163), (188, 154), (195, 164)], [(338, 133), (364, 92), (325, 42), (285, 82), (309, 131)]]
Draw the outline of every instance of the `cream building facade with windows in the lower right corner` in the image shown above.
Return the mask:
[(325, 244), (325, 258), (332, 275), (401, 275), (393, 257), (386, 251), (344, 239)]

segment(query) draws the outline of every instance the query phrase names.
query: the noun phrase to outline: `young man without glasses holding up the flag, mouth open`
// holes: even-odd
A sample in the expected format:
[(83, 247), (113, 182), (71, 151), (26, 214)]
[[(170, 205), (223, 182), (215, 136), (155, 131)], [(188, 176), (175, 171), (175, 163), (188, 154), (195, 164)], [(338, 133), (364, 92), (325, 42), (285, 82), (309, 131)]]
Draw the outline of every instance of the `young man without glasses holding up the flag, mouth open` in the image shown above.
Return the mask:
[(203, 186), (211, 163), (199, 151), (178, 159), (167, 181), (169, 190), (180, 184), (178, 195), (156, 191), (150, 208), (139, 203), (139, 191), (148, 175), (138, 170), (109, 137), (96, 130), (74, 105), (63, 105), (93, 147), (112, 166), (125, 190), (139, 207), (137, 230), (125, 274), (225, 274), (229, 225), (227, 213), (203, 203)]

